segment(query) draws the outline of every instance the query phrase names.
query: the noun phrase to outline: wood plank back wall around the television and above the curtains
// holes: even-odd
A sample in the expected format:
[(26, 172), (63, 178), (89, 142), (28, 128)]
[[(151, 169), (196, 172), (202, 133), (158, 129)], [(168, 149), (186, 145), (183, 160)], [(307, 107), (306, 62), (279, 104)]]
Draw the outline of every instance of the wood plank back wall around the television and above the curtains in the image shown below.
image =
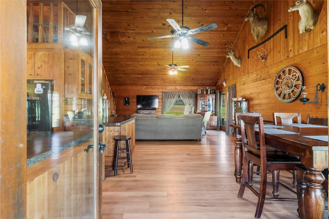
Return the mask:
[[(111, 82), (109, 82), (111, 85)], [(211, 89), (215, 87), (209, 86)], [(156, 114), (161, 114), (162, 106), (162, 92), (163, 91), (195, 91), (197, 89), (205, 89), (197, 86), (111, 86), (111, 90), (114, 93), (114, 99), (116, 103), (116, 113), (119, 116), (130, 116), (133, 113), (137, 113), (136, 109), (136, 95), (158, 95), (159, 96), (159, 108), (156, 110)], [(123, 105), (123, 98), (130, 97), (130, 105)]]

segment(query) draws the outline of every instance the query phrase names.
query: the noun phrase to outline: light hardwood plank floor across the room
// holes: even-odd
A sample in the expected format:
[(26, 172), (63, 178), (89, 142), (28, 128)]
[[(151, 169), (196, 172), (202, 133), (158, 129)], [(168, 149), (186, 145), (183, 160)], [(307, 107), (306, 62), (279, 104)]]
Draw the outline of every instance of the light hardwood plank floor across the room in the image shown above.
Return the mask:
[[(207, 130), (202, 141), (136, 141), (133, 174), (106, 170), (103, 219), (254, 218), (257, 196), (246, 189), (237, 197), (234, 146), (233, 136), (216, 130)], [(280, 181), (293, 188), (290, 173), (281, 171)], [(297, 205), (265, 201), (261, 218), (299, 218)]]

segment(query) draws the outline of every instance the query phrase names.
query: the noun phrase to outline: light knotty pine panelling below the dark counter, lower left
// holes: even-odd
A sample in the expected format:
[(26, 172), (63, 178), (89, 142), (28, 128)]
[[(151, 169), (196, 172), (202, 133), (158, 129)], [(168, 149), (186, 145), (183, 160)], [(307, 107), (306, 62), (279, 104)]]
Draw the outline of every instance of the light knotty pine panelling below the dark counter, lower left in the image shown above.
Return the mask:
[(89, 164), (93, 153), (83, 151), (89, 144), (82, 143), (62, 152), (57, 160), (47, 159), (27, 169), (26, 218), (90, 217), (93, 177)]

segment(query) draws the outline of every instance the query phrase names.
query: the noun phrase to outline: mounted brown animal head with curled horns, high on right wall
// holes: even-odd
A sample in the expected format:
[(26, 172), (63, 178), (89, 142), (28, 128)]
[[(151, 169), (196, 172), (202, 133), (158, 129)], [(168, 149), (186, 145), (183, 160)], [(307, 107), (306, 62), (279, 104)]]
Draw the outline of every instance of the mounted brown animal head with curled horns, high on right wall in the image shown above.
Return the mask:
[(265, 6), (263, 4), (257, 4), (249, 10), (245, 18), (245, 21), (250, 22), (251, 33), (256, 43), (258, 43), (260, 38), (265, 36), (265, 33), (267, 31), (267, 25), (268, 25), (266, 17), (259, 17), (258, 14), (256, 13), (255, 8), (257, 7), (264, 8), (264, 12), (265, 12)]

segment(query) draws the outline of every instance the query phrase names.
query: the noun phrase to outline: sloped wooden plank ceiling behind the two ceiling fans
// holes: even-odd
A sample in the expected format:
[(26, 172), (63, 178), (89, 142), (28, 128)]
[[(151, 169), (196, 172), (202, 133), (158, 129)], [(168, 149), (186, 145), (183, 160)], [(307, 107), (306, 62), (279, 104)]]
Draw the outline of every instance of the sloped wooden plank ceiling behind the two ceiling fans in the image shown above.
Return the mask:
[[(225, 49), (235, 41), (252, 2), (185, 0), (182, 8), (182, 1), (102, 0), (103, 65), (110, 85), (215, 86), (227, 59)], [(171, 34), (167, 18), (190, 29), (218, 27), (193, 35), (209, 46), (189, 41), (188, 51), (172, 52), (172, 37), (148, 39)], [(170, 75), (165, 65), (172, 63), (172, 54), (173, 63), (189, 65), (189, 71)]]

